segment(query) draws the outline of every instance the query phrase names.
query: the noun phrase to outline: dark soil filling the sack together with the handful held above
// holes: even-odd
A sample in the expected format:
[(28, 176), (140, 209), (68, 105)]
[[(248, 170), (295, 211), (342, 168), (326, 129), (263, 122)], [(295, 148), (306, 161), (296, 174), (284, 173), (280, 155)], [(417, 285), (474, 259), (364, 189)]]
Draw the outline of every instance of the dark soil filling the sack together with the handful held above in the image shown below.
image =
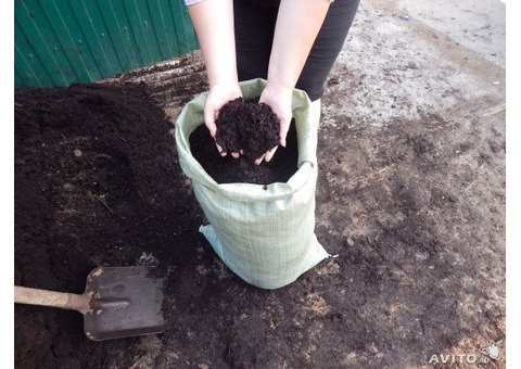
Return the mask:
[(233, 100), (227, 105), (223, 106), (216, 122), (217, 142), (220, 135), (220, 143), (226, 145), (229, 152), (239, 151), (237, 148), (241, 147), (244, 148), (244, 154), (238, 158), (233, 158), (229, 153), (220, 156), (208, 129), (202, 125), (190, 135), (193, 157), (218, 183), (287, 182), (297, 170), (298, 150), (294, 122), (290, 125), (287, 147), (279, 145), (270, 162), (263, 161), (255, 165), (256, 157), (278, 144), (277, 116), (269, 106), (244, 102), (242, 99)]

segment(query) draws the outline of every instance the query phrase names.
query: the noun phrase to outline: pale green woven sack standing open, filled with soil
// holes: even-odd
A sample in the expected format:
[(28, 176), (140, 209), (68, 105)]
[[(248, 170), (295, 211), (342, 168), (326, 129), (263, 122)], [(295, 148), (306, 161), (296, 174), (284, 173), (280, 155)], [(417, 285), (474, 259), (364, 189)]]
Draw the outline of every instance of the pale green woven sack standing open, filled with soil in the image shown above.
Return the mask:
[[(240, 84), (244, 99), (260, 94), (266, 81)], [(189, 137), (204, 124), (207, 92), (190, 101), (176, 120), (179, 163), (209, 225), (200, 231), (221, 260), (247, 283), (278, 289), (330, 256), (315, 236), (318, 109), (307, 94), (292, 97), (298, 169), (288, 182), (267, 186), (217, 183), (192, 156)], [(314, 117), (315, 116), (315, 117)], [(209, 135), (209, 133), (208, 133)]]

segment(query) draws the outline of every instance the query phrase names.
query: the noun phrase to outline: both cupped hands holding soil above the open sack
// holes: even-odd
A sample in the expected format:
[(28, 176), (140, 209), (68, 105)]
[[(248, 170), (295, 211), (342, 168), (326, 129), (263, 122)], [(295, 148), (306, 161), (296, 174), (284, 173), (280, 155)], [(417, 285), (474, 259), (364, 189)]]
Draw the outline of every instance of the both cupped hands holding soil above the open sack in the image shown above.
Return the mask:
[[(285, 137), (288, 136), (288, 130), (291, 123), (291, 96), (292, 90), (283, 87), (277, 87), (270, 85), (269, 81), (266, 85), (263, 93), (259, 98), (259, 103), (264, 102), (269, 105), (275, 114), (280, 119), (280, 142), (281, 147), (285, 147)], [(239, 84), (218, 84), (209, 88), (208, 96), (206, 97), (206, 102), (204, 104), (204, 124), (208, 128), (209, 133), (215, 139), (217, 133), (217, 127), (215, 125), (215, 119), (219, 114), (220, 107), (226, 104), (228, 101), (242, 97), (241, 88)], [(223, 150), (217, 143), (217, 150), (220, 155), (226, 156), (227, 152)], [(255, 160), (255, 164), (259, 165), (263, 161), (269, 162), (277, 151), (278, 147), (272, 148), (271, 150), (264, 153), (260, 157)], [(232, 157), (239, 157), (241, 153), (231, 153)]]

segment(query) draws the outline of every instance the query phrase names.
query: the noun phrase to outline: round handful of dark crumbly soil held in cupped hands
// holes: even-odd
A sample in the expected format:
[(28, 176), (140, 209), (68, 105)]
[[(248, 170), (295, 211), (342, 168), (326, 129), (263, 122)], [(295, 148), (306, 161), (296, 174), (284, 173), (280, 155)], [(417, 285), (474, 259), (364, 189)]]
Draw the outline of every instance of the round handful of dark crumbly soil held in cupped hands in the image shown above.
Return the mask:
[(227, 102), (215, 120), (216, 142), (228, 153), (254, 161), (279, 144), (280, 120), (271, 107), (238, 98)]

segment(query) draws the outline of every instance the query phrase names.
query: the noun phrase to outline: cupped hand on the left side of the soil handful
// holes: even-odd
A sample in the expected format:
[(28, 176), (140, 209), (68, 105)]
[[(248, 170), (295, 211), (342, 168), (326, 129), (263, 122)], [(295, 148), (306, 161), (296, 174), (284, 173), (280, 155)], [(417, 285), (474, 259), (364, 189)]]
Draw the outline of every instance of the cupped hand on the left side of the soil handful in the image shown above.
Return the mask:
[[(227, 82), (227, 84), (217, 84), (209, 88), (208, 96), (206, 97), (206, 101), (204, 103), (204, 124), (206, 128), (209, 130), (209, 135), (215, 140), (215, 136), (217, 135), (217, 126), (215, 125), (215, 119), (219, 114), (219, 110), (226, 104), (228, 101), (241, 98), (242, 92), (241, 88), (239, 87), (238, 82)], [(227, 152), (224, 149), (215, 143), (219, 154), (221, 156), (226, 156)], [(239, 153), (231, 153), (233, 157), (239, 157)]]

